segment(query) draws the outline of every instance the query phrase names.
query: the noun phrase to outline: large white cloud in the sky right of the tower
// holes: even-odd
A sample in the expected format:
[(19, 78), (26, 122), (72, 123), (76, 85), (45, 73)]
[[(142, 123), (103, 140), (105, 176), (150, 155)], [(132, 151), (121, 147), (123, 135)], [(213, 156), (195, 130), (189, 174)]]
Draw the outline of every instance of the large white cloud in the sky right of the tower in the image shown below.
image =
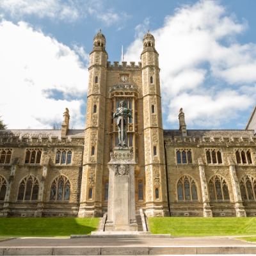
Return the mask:
[[(148, 19), (136, 27), (136, 39), (125, 60), (138, 60), (146, 26)], [(247, 28), (218, 1), (202, 0), (175, 10), (162, 28), (152, 31), (159, 52), (164, 111), (173, 127), (178, 127), (181, 107), (188, 128), (223, 127), (255, 104), (255, 91), (240, 90), (245, 84), (254, 88), (256, 82), (256, 44), (241, 45), (236, 40)]]

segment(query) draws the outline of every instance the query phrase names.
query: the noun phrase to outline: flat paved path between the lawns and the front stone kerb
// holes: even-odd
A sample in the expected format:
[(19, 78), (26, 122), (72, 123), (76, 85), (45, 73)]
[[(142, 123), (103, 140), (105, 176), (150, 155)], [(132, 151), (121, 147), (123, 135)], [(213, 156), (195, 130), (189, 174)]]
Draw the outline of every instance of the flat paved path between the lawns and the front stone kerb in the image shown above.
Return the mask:
[(171, 238), (56, 238), (22, 237), (1, 241), (0, 246), (256, 246), (256, 243), (232, 239), (231, 237), (171, 237)]

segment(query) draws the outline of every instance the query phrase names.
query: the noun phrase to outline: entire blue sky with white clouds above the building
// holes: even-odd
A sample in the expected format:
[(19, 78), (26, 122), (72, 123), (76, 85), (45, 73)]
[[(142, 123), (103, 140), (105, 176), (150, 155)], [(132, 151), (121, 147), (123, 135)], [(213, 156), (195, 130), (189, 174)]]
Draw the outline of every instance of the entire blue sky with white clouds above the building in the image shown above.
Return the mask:
[(156, 40), (164, 129), (244, 129), (256, 104), (255, 0), (1, 0), (0, 119), (52, 129), (70, 111), (84, 129), (89, 54), (102, 29), (108, 61), (140, 61)]

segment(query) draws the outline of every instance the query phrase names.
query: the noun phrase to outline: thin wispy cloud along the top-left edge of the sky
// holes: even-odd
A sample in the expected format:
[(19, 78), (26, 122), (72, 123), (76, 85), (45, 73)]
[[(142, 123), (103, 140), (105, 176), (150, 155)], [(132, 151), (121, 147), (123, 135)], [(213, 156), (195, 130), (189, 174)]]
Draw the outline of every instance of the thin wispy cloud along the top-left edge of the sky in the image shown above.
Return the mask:
[[(66, 22), (74, 22), (74, 20), (84, 19), (87, 15), (91, 15), (102, 21), (104, 26), (120, 24), (129, 19), (129, 15), (125, 12), (117, 13), (114, 8), (106, 8), (103, 0), (1, 0), (1, 12), (8, 13), (14, 19), (22, 19), (29, 15), (36, 15), (39, 18), (60, 19)], [(4, 15), (4, 13), (0, 13)]]

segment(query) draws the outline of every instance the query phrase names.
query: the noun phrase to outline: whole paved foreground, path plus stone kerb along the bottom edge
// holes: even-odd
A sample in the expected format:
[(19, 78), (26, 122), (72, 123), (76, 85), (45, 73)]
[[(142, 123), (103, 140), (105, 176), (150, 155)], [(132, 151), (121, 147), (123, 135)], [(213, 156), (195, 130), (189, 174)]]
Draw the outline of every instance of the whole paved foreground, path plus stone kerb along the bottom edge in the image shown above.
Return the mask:
[(234, 237), (41, 238), (0, 241), (0, 255), (205, 255), (256, 254), (256, 243)]

